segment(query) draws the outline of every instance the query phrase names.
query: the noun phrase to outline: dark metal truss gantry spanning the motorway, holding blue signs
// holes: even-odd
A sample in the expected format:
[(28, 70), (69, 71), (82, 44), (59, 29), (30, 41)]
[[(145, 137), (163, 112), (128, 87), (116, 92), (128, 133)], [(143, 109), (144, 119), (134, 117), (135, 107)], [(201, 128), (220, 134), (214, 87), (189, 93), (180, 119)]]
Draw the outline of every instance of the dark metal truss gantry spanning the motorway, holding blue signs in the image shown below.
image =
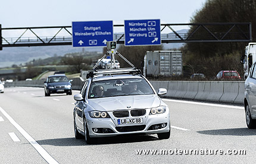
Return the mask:
[[(187, 33), (179, 33), (174, 30), (175, 26), (189, 27), (190, 30)], [(124, 27), (124, 25), (117, 24), (114, 27)], [(35, 32), (37, 29), (47, 31), (57, 29), (58, 31), (53, 36), (45, 37), (37, 34)], [(163, 30), (168, 32), (163, 33)], [(21, 34), (17, 37), (6, 37), (7, 31), (21, 31)], [(33, 34), (33, 37), (24, 37), (28, 31)], [(61, 31), (65, 31), (67, 35), (59, 36)], [(71, 31), (71, 26), (2, 28), (0, 24), (0, 50), (4, 47), (18, 46), (72, 45)], [(161, 24), (161, 43), (251, 42), (251, 40), (251, 23)], [(124, 33), (114, 33), (114, 41), (124, 44)]]

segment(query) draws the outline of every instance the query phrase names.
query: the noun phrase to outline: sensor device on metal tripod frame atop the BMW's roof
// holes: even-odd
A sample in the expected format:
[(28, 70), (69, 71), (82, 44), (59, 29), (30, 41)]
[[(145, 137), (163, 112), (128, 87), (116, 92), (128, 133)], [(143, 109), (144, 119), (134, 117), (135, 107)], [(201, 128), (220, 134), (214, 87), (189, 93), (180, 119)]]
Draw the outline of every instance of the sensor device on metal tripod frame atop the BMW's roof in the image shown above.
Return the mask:
[(107, 53), (104, 54), (104, 56), (102, 56), (102, 58), (97, 62), (97, 64), (92, 68), (92, 70), (95, 70), (95, 68), (99, 65), (99, 63), (102, 61), (102, 59), (104, 59), (107, 55), (111, 56), (111, 67), (110, 69), (115, 68), (115, 55), (119, 55), (122, 59), (124, 59), (124, 61), (126, 61), (130, 66), (132, 66), (133, 68), (135, 68), (135, 66), (129, 62), (126, 58), (124, 58), (123, 55), (121, 55), (120, 53), (118, 53), (115, 49), (117, 48), (117, 42), (115, 41), (109, 41), (107, 42)]

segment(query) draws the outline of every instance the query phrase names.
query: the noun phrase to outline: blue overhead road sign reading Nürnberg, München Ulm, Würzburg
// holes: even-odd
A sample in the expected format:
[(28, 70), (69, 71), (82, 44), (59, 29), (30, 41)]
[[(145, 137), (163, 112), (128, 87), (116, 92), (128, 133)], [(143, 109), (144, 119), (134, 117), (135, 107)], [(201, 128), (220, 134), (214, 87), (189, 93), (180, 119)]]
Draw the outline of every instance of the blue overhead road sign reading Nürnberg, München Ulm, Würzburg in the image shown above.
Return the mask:
[(124, 20), (124, 45), (161, 45), (160, 20)]

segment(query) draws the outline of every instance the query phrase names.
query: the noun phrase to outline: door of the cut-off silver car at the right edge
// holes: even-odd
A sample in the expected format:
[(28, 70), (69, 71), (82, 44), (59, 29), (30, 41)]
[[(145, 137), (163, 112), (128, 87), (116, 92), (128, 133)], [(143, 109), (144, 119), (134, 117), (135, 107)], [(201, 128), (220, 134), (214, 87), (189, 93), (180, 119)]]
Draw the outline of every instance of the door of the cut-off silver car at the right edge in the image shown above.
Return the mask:
[(252, 115), (256, 115), (256, 67), (255, 64), (253, 67), (251, 67), (252, 72), (249, 75), (249, 81), (248, 81), (248, 97), (249, 97), (249, 103), (250, 107), (252, 109)]

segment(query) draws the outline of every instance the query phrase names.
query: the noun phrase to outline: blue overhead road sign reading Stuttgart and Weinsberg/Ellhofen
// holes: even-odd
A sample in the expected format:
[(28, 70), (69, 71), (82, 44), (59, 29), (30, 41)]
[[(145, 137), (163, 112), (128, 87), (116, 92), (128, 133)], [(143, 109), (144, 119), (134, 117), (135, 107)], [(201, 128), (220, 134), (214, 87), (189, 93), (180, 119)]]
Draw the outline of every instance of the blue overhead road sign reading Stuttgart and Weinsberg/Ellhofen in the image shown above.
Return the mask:
[(113, 21), (73, 21), (73, 47), (106, 46), (113, 40)]

